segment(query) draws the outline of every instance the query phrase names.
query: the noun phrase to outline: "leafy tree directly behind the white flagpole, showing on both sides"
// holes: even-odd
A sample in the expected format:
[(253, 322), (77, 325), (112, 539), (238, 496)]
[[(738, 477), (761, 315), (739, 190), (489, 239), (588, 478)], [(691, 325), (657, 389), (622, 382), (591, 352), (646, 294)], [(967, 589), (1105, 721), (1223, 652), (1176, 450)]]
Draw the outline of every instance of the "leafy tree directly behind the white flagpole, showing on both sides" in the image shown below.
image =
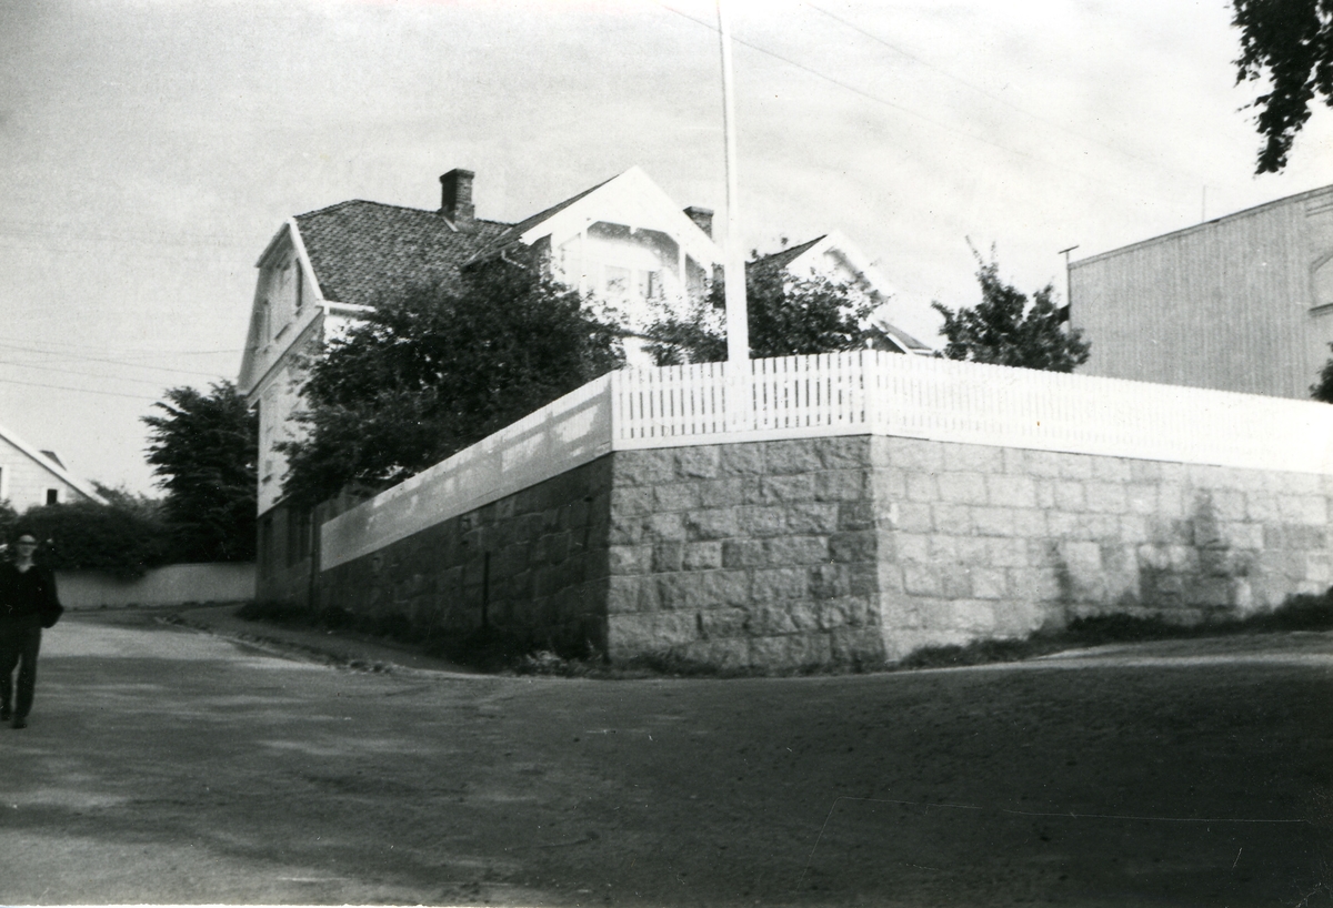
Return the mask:
[[(750, 357), (837, 353), (865, 346), (873, 305), (842, 284), (822, 277), (793, 278), (757, 253), (745, 268)], [(684, 316), (666, 314), (645, 332), (659, 366), (726, 358), (726, 285), (713, 281), (708, 296)]]

